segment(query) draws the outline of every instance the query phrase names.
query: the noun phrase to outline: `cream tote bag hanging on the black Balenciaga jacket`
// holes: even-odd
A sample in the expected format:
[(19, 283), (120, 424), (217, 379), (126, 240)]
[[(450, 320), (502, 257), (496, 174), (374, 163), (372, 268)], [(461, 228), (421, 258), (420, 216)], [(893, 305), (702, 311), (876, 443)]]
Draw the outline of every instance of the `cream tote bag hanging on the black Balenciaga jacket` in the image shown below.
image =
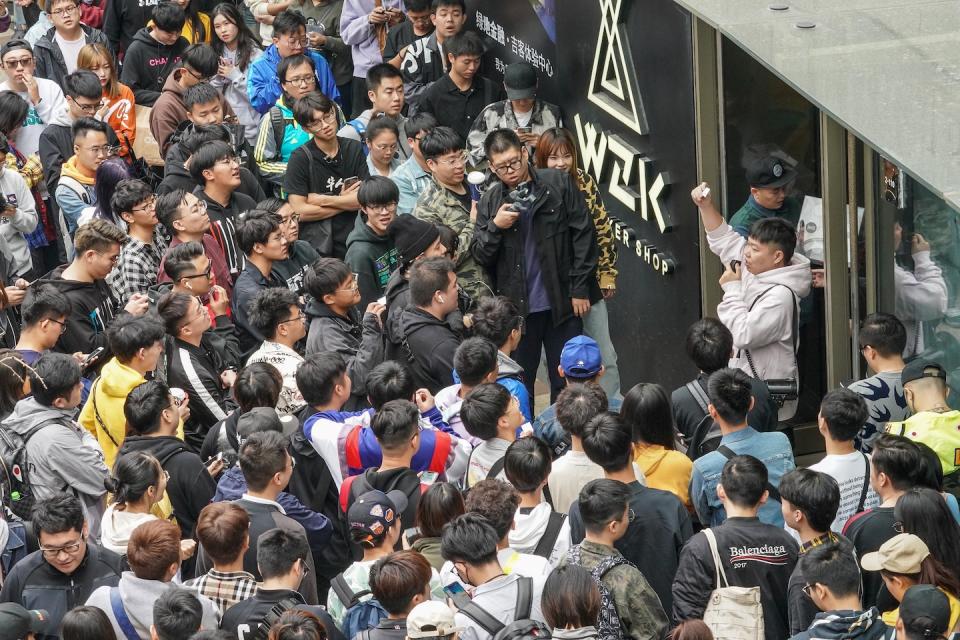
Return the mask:
[(764, 640), (760, 587), (729, 586), (717, 551), (717, 538), (711, 529), (704, 529), (703, 534), (717, 571), (717, 586), (710, 593), (703, 622), (716, 640)]

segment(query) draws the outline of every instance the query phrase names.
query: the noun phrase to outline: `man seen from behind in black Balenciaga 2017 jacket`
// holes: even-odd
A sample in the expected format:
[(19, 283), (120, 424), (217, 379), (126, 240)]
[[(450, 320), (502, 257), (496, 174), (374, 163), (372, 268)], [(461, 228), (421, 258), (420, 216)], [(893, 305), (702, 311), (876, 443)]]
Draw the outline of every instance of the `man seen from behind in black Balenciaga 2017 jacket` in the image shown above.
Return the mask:
[[(790, 574), (797, 564), (797, 543), (783, 530), (757, 517), (769, 499), (767, 468), (753, 456), (734, 456), (723, 467), (717, 494), (727, 512), (726, 521), (711, 531), (717, 540), (723, 572), (731, 587), (759, 587), (763, 627), (767, 640), (783, 640), (787, 624)], [(673, 619), (700, 620), (717, 584), (707, 536), (690, 538), (680, 554), (673, 581)]]

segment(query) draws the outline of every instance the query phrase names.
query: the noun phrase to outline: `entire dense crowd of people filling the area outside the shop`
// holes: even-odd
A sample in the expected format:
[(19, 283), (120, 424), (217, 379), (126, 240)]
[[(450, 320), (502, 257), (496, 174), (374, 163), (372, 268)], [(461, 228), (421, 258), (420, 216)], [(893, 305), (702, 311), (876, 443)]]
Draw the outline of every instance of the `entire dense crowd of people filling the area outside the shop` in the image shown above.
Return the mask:
[(897, 317), (796, 468), (814, 283), (777, 156), (729, 223), (693, 189), (718, 317), (695, 378), (624, 393), (597, 183), (463, 0), (17, 7), (0, 638), (960, 628), (958, 412)]

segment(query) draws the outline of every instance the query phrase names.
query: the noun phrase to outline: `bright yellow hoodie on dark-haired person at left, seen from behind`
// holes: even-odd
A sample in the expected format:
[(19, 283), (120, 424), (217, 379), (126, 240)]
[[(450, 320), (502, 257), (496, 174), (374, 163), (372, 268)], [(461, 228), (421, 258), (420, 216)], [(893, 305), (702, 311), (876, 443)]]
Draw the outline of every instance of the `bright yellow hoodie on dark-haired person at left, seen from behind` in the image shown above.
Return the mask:
[[(123, 404), (133, 389), (146, 382), (138, 371), (116, 358), (103, 365), (100, 377), (93, 383), (87, 404), (80, 411), (80, 424), (92, 433), (100, 447), (107, 466), (113, 468), (117, 450), (123, 444), (127, 434), (127, 418), (123, 415)], [(97, 415), (99, 414), (99, 420)], [(177, 437), (183, 439), (183, 422), (177, 428)]]

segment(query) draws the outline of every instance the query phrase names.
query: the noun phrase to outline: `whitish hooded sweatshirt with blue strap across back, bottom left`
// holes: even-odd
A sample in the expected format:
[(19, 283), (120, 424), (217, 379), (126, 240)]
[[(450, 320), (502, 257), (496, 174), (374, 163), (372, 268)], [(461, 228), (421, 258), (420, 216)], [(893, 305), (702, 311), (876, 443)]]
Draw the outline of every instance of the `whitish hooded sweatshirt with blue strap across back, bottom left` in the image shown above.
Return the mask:
[[(174, 582), (160, 580), (144, 580), (138, 578), (132, 571), (124, 571), (120, 576), (120, 598), (123, 601), (123, 610), (130, 619), (133, 628), (141, 638), (150, 637), (150, 626), (153, 625), (153, 605), (157, 599), (170, 589), (179, 587)], [(217, 611), (213, 601), (206, 596), (194, 594), (203, 607), (203, 618), (200, 626), (203, 629), (217, 628)], [(123, 629), (117, 623), (117, 618), (110, 606), (110, 587), (100, 587), (90, 594), (87, 606), (96, 607), (107, 614), (114, 633), (118, 638), (126, 638)]]

